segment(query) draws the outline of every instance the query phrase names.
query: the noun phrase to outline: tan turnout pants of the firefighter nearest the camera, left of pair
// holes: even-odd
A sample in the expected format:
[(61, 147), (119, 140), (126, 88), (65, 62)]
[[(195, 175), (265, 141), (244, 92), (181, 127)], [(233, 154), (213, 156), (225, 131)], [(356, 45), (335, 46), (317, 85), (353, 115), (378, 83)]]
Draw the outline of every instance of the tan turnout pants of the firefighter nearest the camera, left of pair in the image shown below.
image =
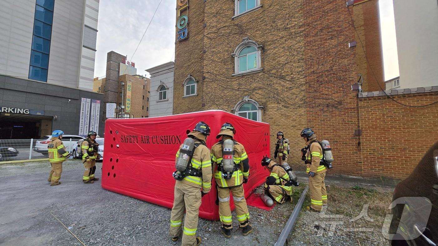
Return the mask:
[(182, 246), (194, 246), (196, 245), (199, 206), (201, 206), (201, 189), (177, 180), (173, 193), (173, 208), (170, 214), (170, 236), (177, 237), (181, 234), (185, 210), (186, 218), (184, 219)]

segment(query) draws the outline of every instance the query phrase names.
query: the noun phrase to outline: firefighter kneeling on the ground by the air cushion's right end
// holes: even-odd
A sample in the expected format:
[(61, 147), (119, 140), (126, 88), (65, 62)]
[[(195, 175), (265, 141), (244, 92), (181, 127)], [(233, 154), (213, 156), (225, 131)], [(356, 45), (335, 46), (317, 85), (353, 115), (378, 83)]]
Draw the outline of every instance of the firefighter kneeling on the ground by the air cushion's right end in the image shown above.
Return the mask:
[[(293, 173), (292, 169), (286, 171), (286, 168), (275, 163), (268, 157), (261, 159), (261, 166), (265, 166), (271, 171), (271, 174), (266, 178), (264, 186), (265, 194), (271, 197), (275, 203), (282, 204), (285, 201), (292, 201), (292, 186), (299, 185), (297, 176)], [(267, 206), (271, 205), (269, 202), (267, 204), (265, 200), (264, 202)]]

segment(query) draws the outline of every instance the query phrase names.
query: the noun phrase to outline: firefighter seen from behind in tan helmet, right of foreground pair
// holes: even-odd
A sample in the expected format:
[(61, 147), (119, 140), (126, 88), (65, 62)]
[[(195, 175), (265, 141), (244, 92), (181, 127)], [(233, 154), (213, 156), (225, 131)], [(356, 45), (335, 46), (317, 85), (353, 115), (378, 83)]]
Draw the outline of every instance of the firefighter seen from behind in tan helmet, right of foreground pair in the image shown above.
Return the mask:
[(219, 218), (222, 222), (222, 233), (231, 237), (233, 229), (230, 210), (230, 193), (233, 194), (236, 206), (237, 220), (242, 234), (247, 236), (252, 232), (249, 222), (248, 206), (245, 200), (242, 184), (247, 183), (249, 176), (249, 160), (245, 148), (233, 137), (236, 130), (230, 123), (222, 125), (216, 139), (222, 138), (212, 146), (212, 164), (215, 170), (215, 180), (219, 199)]

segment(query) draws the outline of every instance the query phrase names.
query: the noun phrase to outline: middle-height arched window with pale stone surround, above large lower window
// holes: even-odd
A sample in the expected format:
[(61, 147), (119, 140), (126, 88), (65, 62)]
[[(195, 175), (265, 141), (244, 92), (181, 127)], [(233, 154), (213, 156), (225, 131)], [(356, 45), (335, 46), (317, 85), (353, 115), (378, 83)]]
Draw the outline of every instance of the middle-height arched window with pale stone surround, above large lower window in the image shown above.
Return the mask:
[(261, 68), (261, 49), (262, 45), (244, 38), (243, 42), (237, 45), (234, 53), (234, 74), (233, 76), (240, 76), (249, 73), (257, 73), (263, 70)]

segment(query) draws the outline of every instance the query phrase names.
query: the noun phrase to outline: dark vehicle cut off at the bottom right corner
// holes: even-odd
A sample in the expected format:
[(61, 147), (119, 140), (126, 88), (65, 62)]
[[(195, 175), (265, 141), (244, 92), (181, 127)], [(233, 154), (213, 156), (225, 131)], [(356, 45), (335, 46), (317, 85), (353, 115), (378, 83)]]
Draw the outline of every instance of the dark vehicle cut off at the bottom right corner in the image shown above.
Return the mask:
[(438, 245), (438, 142), (394, 190), (392, 246)]

